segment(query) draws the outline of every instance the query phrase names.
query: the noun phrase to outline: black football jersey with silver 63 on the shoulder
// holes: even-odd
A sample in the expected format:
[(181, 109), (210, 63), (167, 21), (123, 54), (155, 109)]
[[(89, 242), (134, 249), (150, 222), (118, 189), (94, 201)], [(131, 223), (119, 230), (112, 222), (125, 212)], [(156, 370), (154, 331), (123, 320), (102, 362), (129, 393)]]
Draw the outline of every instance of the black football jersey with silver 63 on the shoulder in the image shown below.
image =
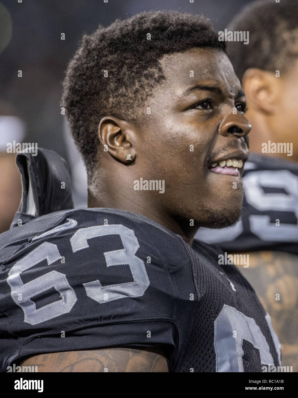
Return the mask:
[(4, 232), (0, 370), (39, 353), (113, 346), (160, 346), (171, 372), (280, 365), (269, 315), (220, 254), (115, 209), (58, 211)]

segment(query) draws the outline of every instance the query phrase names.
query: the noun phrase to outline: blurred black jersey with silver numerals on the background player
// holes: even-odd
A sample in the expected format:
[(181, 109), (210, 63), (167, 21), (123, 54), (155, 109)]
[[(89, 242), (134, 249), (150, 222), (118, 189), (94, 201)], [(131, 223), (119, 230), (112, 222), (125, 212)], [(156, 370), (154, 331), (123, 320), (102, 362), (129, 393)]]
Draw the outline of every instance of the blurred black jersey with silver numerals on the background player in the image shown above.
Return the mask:
[(240, 220), (227, 228), (199, 228), (195, 238), (226, 252), (298, 254), (298, 164), (252, 153), (243, 188)]

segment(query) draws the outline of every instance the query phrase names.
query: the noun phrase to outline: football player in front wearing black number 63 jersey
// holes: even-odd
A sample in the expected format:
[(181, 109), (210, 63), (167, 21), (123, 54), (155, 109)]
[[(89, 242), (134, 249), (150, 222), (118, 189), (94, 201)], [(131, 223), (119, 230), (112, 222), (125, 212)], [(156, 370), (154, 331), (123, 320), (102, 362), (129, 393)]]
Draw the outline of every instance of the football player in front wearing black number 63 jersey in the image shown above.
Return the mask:
[(240, 216), (251, 129), (209, 22), (152, 12), (84, 35), (61, 105), (88, 170), (89, 209), (71, 209), (55, 153), (18, 155), (23, 199), (0, 235), (1, 370), (279, 366), (252, 287), (220, 250), (191, 248), (200, 226)]

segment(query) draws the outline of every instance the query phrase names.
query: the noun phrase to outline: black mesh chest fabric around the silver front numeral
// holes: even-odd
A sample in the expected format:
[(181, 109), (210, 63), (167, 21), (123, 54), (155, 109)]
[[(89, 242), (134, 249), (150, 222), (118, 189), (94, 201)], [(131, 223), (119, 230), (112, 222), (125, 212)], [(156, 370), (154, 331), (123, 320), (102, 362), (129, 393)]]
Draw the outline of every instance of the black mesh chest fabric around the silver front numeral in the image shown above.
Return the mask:
[[(210, 250), (206, 252), (204, 246), (198, 243), (193, 246), (193, 249), (200, 252), (200, 258), (192, 250), (187, 249), (191, 257), (193, 282), (198, 303), (189, 328), (189, 335), (186, 338), (187, 343), (183, 349), (183, 355), (177, 363), (175, 371), (216, 372), (214, 321), (224, 303), (228, 303), (243, 314), (255, 319), (269, 344), (274, 362), (278, 364), (274, 342), (270, 330), (264, 322), (265, 311), (252, 287), (234, 265), (224, 265), (224, 269), (222, 269), (215, 263), (213, 253)], [(231, 288), (230, 281), (236, 287), (236, 292)], [(261, 372), (259, 351), (245, 340), (243, 340), (242, 349), (244, 372)]]

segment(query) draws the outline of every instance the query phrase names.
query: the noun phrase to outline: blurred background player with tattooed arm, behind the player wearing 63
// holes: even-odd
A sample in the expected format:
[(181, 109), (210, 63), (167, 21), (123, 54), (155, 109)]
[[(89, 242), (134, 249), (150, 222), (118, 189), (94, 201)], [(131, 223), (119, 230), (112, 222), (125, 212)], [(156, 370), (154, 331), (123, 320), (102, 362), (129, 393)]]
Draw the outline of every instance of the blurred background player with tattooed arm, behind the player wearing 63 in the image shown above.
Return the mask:
[(225, 252), (249, 251), (238, 264), (272, 316), (282, 364), (298, 371), (298, 2), (261, 1), (229, 30), (249, 44), (228, 43), (251, 121), (251, 154), (243, 173), (242, 220), (197, 238)]

